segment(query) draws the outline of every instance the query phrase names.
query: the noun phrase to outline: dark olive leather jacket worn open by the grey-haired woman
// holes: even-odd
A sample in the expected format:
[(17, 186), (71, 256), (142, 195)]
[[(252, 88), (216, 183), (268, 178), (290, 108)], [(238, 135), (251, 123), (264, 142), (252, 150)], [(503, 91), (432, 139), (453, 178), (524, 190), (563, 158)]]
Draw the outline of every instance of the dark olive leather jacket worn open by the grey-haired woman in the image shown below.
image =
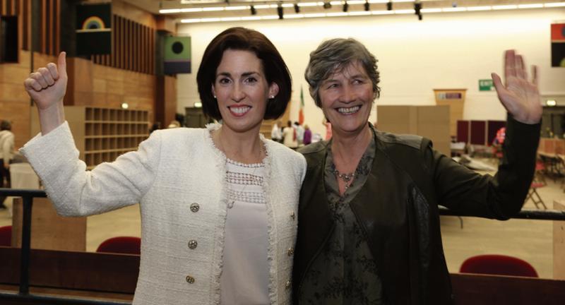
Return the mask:
[[(457, 296), (451, 292), (438, 205), (498, 220), (518, 213), (533, 179), (540, 124), (509, 117), (504, 159), (494, 177), (441, 155), (426, 138), (376, 130), (375, 135), (371, 173), (350, 207), (379, 270), (383, 299), (387, 304), (453, 304)], [(300, 193), (294, 304), (299, 304), (309, 265), (334, 227), (323, 183), (327, 149), (328, 142), (319, 142), (300, 151), (307, 174)]]

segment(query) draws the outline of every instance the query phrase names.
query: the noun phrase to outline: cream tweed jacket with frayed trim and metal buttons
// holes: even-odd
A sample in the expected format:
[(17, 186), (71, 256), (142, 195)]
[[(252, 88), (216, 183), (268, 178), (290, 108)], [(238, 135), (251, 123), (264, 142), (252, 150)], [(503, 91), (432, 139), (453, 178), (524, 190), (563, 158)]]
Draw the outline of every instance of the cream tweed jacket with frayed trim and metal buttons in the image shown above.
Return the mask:
[[(218, 125), (208, 126), (213, 128)], [(263, 187), (269, 296), (271, 304), (290, 304), (295, 215), (306, 161), (298, 152), (262, 140), (268, 155)], [(141, 265), (133, 304), (220, 304), (226, 164), (207, 129), (155, 131), (137, 151), (93, 171), (78, 160), (66, 122), (35, 136), (21, 152), (60, 215), (100, 214), (140, 203)], [(190, 240), (198, 242), (195, 249), (187, 246)]]

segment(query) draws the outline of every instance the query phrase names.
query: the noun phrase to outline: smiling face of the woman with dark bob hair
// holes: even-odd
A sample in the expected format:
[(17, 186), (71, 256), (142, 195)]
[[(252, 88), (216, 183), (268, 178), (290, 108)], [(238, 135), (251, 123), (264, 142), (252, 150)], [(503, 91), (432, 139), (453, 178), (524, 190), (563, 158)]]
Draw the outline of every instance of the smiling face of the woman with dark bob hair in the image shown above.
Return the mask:
[(258, 133), (269, 97), (278, 93), (268, 84), (261, 60), (253, 52), (227, 49), (216, 69), (212, 93), (218, 100), (223, 128)]

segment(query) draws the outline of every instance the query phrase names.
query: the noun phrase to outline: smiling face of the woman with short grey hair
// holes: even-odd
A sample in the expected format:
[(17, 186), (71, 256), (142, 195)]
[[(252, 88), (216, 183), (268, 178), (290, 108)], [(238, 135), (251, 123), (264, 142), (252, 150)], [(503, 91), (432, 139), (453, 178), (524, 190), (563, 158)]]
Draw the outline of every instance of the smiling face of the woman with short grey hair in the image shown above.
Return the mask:
[(359, 62), (335, 71), (319, 89), (323, 114), (336, 135), (360, 133), (367, 127), (375, 98), (373, 85)]

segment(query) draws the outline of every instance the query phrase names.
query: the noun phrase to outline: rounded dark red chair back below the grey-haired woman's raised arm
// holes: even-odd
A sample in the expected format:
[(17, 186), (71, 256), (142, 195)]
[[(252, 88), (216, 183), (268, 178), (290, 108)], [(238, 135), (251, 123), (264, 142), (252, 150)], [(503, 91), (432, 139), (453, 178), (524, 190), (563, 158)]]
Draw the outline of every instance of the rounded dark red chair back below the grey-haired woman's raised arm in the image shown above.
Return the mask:
[(538, 277), (535, 268), (527, 261), (499, 254), (484, 254), (467, 258), (461, 265), (459, 272)]

